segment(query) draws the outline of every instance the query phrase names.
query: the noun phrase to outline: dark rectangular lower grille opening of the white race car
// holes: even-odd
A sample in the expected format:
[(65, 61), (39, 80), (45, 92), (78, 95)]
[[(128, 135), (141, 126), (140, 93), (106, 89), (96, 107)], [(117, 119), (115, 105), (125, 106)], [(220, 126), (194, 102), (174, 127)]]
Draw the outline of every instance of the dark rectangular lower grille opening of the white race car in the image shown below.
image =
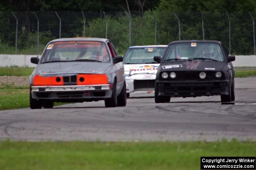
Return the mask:
[(155, 80), (134, 80), (134, 91), (154, 90)]

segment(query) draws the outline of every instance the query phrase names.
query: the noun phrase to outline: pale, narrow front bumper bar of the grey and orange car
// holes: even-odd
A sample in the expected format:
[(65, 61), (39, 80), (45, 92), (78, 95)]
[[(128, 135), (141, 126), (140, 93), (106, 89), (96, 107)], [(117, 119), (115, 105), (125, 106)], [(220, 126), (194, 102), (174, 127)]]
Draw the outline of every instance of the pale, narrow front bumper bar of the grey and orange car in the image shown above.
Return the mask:
[(65, 86), (32, 86), (32, 92), (61, 92), (61, 91), (94, 91), (110, 90), (109, 84), (104, 85), (65, 85)]

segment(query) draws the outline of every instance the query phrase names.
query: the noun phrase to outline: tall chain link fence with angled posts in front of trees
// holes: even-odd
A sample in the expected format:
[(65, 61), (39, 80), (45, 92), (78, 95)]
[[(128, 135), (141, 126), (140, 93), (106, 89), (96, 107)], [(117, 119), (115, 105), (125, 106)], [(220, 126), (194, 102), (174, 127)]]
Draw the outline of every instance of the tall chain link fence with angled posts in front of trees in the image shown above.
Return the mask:
[(124, 54), (129, 46), (174, 40), (219, 40), (232, 55), (255, 55), (251, 13), (0, 11), (0, 53), (38, 54), (55, 38), (102, 37)]

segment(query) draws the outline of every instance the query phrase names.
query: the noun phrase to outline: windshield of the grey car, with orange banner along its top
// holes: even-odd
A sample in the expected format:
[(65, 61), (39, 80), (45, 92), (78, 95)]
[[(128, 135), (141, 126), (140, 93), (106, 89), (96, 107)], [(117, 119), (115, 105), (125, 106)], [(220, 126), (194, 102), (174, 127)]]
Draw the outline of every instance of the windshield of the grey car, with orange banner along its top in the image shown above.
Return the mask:
[(41, 63), (95, 61), (110, 62), (105, 43), (96, 41), (63, 41), (48, 44)]

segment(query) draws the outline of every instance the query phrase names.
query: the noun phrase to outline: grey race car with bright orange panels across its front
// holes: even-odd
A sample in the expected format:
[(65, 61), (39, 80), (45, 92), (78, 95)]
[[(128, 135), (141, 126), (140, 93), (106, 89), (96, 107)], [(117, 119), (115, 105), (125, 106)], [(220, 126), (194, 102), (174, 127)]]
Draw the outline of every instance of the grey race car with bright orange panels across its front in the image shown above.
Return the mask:
[(126, 105), (123, 58), (103, 38), (61, 38), (45, 47), (30, 76), (30, 108), (54, 102), (105, 100), (106, 107)]

